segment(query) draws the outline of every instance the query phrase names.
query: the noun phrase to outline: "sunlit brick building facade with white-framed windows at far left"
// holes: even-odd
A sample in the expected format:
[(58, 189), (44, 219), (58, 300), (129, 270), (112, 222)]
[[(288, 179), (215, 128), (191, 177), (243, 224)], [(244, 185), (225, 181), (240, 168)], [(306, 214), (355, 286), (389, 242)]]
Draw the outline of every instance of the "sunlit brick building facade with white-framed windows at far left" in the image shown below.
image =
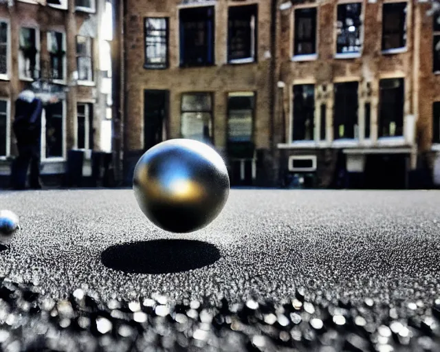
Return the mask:
[[(105, 0), (9, 0), (0, 3), (0, 179), (8, 186), (14, 101), (30, 84), (55, 89), (61, 101), (44, 109), (43, 175), (63, 175), (68, 151), (99, 150), (111, 67), (99, 60)], [(109, 53), (108, 53), (109, 55)], [(103, 72), (102, 70), (105, 70)], [(109, 116), (111, 117), (111, 116)], [(109, 120), (110, 122), (110, 120)], [(111, 122), (110, 122), (111, 123)], [(90, 169), (86, 154), (85, 173)]]

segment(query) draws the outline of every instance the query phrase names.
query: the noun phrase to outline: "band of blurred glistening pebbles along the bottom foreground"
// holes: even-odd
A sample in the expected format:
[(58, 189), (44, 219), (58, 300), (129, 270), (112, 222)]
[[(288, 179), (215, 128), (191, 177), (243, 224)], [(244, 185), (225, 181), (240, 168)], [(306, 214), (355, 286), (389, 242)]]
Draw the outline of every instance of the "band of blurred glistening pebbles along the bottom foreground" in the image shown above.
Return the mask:
[(0, 279), (0, 351), (439, 351), (440, 299), (414, 304), (355, 306), (305, 289), (281, 304), (101, 302), (82, 289), (55, 302)]

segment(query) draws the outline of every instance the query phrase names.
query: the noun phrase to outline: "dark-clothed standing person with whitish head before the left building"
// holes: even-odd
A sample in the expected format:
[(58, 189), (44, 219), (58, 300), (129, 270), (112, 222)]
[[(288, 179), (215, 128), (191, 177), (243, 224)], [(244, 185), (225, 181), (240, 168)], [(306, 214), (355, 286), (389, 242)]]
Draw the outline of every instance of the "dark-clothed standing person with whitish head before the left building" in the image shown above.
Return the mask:
[(12, 168), (12, 185), (16, 190), (23, 190), (30, 164), (29, 184), (32, 189), (41, 189), (40, 154), (41, 154), (41, 115), (43, 102), (36, 98), (33, 91), (25, 90), (15, 101), (14, 134), (17, 138), (19, 156)]

